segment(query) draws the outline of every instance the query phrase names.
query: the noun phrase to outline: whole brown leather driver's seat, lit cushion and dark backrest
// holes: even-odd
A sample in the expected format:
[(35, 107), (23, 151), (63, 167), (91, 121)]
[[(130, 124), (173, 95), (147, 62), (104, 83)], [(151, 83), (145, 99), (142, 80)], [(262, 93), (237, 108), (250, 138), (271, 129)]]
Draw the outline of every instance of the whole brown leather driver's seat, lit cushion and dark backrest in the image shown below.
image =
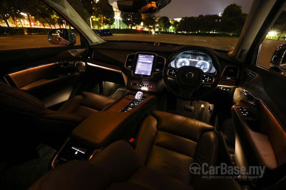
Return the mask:
[(189, 170), (192, 163), (215, 165), (213, 130), (200, 121), (154, 111), (142, 123), (135, 150), (116, 141), (87, 162), (70, 161), (49, 171), (29, 189), (240, 189), (234, 179), (208, 180)]

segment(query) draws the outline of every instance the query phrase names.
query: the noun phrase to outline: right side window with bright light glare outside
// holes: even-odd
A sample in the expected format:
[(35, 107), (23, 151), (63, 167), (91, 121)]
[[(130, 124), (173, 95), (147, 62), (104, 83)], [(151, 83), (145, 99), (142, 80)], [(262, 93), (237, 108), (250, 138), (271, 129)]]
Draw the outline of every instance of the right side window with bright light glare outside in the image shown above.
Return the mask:
[[(277, 66), (271, 64), (274, 52), (277, 52), (276, 49), (286, 44), (286, 10), (283, 10), (277, 20), (274, 22), (271, 30), (266, 35), (265, 39), (261, 44), (261, 50), (259, 55), (259, 60), (257, 65), (262, 66), (266, 69), (278, 72), (286, 76), (286, 73), (279, 70)], [(282, 46), (283, 47), (283, 46)], [(283, 51), (284, 49), (282, 49)], [(280, 52), (281, 53), (281, 52)], [(282, 57), (281, 57), (282, 58)], [(284, 59), (286, 57), (283, 57)], [(283, 58), (281, 59), (283, 62)], [(277, 61), (276, 61), (277, 62)]]

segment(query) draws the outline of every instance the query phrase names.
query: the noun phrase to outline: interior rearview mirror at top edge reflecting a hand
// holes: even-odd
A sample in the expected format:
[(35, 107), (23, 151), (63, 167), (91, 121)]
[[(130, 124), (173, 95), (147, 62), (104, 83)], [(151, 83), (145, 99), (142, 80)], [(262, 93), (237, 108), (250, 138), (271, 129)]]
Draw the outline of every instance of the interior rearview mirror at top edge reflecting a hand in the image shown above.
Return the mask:
[(128, 12), (128, 13), (153, 13), (156, 12), (167, 4), (169, 4), (171, 0), (154, 0), (154, 1), (145, 1), (145, 0), (137, 0), (137, 1), (117, 1), (117, 6), (119, 11)]

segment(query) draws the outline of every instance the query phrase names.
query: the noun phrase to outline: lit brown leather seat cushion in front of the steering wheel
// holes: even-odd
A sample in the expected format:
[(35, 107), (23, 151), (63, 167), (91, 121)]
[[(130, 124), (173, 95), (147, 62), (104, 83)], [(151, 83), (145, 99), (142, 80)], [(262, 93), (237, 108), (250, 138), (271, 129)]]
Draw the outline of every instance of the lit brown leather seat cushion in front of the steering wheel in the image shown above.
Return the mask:
[(192, 163), (215, 165), (218, 142), (213, 130), (194, 119), (154, 111), (142, 123), (135, 151), (146, 167), (192, 184)]

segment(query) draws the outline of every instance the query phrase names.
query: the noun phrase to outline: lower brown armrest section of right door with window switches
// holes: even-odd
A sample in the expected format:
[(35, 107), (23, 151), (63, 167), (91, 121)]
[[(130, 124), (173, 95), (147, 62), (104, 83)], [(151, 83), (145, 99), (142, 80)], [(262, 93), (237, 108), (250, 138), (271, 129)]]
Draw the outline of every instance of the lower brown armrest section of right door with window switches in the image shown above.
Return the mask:
[(273, 169), (286, 162), (286, 133), (262, 102), (254, 106), (241, 98), (231, 113), (251, 164)]

